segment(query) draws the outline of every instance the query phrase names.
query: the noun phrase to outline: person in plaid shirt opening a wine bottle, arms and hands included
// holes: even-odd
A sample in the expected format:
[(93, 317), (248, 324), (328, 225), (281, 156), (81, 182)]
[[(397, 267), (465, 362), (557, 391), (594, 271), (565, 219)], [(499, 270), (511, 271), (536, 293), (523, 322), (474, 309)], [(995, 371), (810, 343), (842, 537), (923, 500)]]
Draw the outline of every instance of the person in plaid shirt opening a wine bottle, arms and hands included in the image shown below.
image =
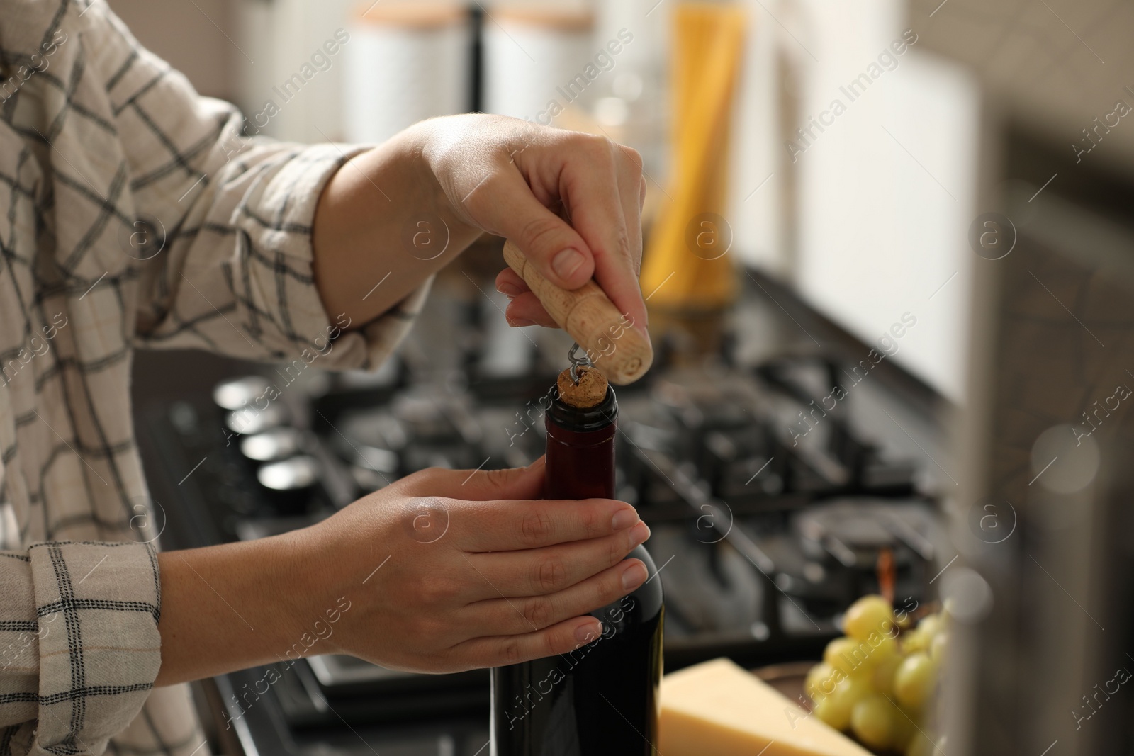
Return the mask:
[[(598, 635), (649, 530), (621, 502), (534, 503), (542, 462), (425, 470), (252, 543), (138, 543), (128, 379), (136, 346), (373, 368), (485, 230), (644, 329), (636, 153), (492, 116), (378, 147), (244, 139), (103, 0), (0, 0), (0, 754), (204, 754), (178, 683), (296, 648), (443, 672)], [(422, 222), (445, 254), (414, 254)], [(497, 286), (513, 325), (552, 325)], [(445, 537), (414, 538), (442, 510)]]

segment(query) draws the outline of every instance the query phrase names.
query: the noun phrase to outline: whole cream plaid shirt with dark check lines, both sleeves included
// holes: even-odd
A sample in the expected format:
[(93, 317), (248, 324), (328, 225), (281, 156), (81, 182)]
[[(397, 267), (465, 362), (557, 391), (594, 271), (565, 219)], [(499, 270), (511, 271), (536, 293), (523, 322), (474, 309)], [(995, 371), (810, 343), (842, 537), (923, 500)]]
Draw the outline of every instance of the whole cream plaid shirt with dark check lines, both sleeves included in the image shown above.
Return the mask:
[[(348, 153), (242, 138), (104, 0), (0, 0), (0, 755), (202, 756), (186, 686), (153, 688), (132, 352), (325, 346), (311, 226)], [(426, 291), (320, 364), (380, 363)]]

